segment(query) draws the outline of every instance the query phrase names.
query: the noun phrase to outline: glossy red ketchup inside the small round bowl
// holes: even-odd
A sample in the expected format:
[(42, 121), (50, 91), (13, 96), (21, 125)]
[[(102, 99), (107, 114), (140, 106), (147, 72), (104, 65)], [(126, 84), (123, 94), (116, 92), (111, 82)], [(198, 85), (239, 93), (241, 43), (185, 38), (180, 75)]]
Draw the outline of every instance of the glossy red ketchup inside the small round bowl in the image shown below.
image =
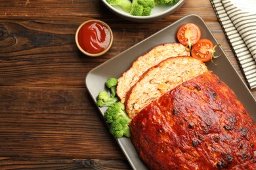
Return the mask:
[(84, 24), (78, 32), (78, 43), (91, 54), (104, 51), (110, 44), (110, 30), (101, 22), (91, 21)]

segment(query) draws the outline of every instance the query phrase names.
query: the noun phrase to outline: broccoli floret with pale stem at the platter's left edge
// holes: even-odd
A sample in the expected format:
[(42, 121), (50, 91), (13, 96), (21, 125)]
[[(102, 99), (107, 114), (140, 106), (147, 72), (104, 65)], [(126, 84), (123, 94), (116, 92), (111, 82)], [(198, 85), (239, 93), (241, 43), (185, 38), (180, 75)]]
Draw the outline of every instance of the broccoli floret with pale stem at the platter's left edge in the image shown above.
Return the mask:
[(102, 91), (98, 93), (98, 99), (96, 101), (96, 105), (98, 107), (109, 107), (113, 103), (116, 103), (118, 101), (117, 97), (110, 97), (108, 95), (108, 92)]

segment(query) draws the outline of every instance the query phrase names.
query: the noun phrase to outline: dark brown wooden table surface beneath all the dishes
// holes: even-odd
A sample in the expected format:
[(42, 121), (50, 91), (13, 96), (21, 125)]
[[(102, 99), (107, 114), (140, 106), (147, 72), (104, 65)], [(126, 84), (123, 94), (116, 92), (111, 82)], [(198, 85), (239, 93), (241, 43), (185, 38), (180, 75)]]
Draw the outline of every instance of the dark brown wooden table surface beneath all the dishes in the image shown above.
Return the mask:
[[(85, 76), (188, 14), (203, 18), (244, 78), (207, 0), (187, 0), (174, 14), (140, 24), (118, 18), (100, 0), (2, 0), (0, 9), (0, 169), (131, 169)], [(77, 27), (90, 19), (114, 31), (112, 48), (99, 58), (75, 46)]]

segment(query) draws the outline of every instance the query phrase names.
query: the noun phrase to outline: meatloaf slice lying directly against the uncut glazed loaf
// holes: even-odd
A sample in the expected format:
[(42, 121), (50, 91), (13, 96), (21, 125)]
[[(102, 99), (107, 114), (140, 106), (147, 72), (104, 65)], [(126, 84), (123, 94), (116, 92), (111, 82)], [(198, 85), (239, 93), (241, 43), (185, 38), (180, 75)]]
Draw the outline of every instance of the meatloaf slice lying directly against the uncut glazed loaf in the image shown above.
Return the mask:
[(133, 118), (141, 109), (182, 82), (207, 71), (205, 63), (192, 57), (167, 58), (146, 71), (127, 92), (125, 110)]

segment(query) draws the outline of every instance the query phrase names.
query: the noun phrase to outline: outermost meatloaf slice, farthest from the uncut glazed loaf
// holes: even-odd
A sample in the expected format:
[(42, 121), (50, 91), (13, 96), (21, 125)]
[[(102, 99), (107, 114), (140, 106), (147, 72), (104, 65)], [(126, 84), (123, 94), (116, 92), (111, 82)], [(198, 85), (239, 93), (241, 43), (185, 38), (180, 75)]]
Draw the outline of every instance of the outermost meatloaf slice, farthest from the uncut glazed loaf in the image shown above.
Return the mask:
[(179, 43), (166, 43), (152, 48), (149, 52), (140, 56), (133, 65), (118, 79), (116, 93), (125, 102), (127, 91), (139, 80), (140, 76), (150, 67), (157, 65), (163, 59), (176, 56), (189, 56), (188, 49)]

